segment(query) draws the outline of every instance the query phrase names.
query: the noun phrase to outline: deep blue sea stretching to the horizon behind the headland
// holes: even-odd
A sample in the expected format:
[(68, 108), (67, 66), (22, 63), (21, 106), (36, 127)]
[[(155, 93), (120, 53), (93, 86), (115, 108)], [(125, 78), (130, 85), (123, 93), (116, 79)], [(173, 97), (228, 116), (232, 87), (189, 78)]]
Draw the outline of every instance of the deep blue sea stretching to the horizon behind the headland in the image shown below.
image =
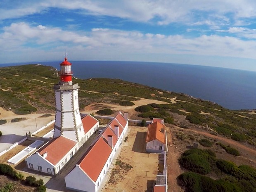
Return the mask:
[[(59, 63), (40, 62), (57, 69)], [(82, 79), (119, 78), (163, 90), (183, 92), (216, 102), (228, 109), (256, 109), (254, 71), (187, 64), (113, 61), (73, 61), (72, 70), (74, 76)]]

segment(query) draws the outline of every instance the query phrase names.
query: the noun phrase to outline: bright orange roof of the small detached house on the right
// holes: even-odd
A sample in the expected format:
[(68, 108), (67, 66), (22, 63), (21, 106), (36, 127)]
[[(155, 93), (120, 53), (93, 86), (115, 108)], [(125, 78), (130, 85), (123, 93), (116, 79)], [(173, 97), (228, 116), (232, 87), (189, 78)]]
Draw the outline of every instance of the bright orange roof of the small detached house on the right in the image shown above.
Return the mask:
[(159, 140), (160, 142), (165, 143), (165, 134), (161, 132), (162, 129), (164, 129), (165, 131), (164, 125), (159, 123), (158, 121), (149, 124), (147, 129), (146, 142)]

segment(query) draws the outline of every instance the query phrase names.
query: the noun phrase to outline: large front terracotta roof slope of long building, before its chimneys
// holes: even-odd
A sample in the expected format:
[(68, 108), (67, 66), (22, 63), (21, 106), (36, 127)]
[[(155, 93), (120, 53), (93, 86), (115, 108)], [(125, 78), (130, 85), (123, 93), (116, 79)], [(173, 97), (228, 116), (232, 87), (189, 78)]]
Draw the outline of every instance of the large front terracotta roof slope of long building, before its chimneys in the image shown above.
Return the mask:
[(106, 164), (109, 155), (111, 154), (111, 147), (107, 142), (100, 137), (92, 149), (88, 152), (85, 158), (79, 164), (80, 167), (87, 173), (87, 175), (96, 182), (102, 171), (104, 164)]

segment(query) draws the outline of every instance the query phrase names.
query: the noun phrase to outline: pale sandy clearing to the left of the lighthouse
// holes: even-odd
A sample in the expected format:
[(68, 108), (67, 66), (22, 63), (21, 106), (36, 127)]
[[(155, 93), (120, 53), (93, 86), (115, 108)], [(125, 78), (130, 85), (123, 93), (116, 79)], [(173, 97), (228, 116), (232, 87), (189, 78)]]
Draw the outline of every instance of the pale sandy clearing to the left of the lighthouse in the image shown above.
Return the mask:
[[(29, 131), (33, 133), (55, 118), (54, 115), (38, 118), (42, 115), (43, 114), (17, 115), (12, 111), (5, 111), (0, 107), (0, 119), (7, 121), (7, 123), (0, 125), (0, 131), (3, 134), (0, 137), (0, 152), (12, 146), (15, 142), (22, 140)], [(11, 123), (11, 120), (15, 118), (26, 118), (26, 120)]]

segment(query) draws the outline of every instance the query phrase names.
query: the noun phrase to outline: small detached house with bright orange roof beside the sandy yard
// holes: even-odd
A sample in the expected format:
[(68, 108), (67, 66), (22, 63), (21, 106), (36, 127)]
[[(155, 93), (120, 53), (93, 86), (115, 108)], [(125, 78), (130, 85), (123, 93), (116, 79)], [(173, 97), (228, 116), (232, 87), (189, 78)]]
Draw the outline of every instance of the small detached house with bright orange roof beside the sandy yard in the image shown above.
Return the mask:
[(164, 119), (153, 119), (149, 124), (146, 136), (146, 151), (149, 153), (161, 153), (166, 147), (166, 134)]

